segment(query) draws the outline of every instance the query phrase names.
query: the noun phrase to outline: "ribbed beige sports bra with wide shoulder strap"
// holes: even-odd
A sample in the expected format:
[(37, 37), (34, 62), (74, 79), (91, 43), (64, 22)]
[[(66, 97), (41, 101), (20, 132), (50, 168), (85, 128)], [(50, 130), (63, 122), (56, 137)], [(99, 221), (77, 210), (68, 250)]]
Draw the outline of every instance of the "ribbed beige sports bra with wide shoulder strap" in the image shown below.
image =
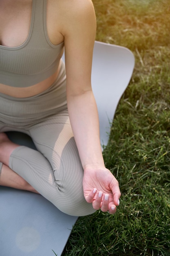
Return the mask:
[(53, 45), (46, 29), (46, 0), (33, 0), (31, 24), (25, 42), (17, 47), (0, 45), (0, 83), (29, 87), (55, 73), (64, 43)]

